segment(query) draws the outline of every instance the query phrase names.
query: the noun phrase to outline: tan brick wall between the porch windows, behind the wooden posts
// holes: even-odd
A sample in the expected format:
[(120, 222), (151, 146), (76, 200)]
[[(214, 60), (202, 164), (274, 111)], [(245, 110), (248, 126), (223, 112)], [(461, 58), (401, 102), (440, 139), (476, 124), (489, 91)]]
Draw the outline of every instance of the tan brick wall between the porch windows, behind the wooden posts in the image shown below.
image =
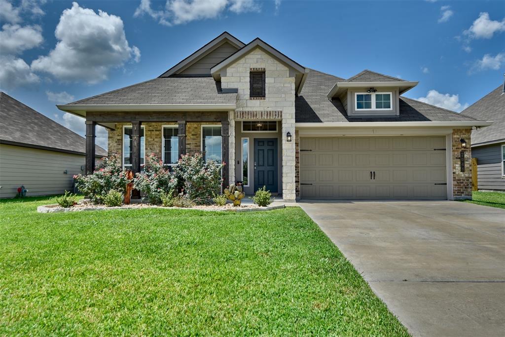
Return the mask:
[[(186, 153), (201, 152), (201, 125), (220, 125), (219, 122), (187, 123), (186, 124)], [(123, 125), (130, 123), (116, 123), (115, 130), (109, 130), (109, 153), (116, 153), (118, 158), (123, 155)], [(177, 123), (142, 123), (145, 134), (145, 154), (154, 153), (162, 158), (161, 135), (162, 125), (177, 125)], [(231, 157), (230, 157), (231, 160)]]

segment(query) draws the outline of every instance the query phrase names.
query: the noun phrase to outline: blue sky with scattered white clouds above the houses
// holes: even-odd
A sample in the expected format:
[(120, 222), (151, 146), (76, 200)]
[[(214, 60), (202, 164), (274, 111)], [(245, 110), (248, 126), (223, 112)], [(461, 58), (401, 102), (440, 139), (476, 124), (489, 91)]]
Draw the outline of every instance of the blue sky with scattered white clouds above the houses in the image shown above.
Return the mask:
[(157, 77), (223, 31), (336, 76), (419, 81), (407, 97), (456, 111), (505, 70), (503, 1), (0, 0), (0, 20), (0, 88), (80, 134), (55, 104)]

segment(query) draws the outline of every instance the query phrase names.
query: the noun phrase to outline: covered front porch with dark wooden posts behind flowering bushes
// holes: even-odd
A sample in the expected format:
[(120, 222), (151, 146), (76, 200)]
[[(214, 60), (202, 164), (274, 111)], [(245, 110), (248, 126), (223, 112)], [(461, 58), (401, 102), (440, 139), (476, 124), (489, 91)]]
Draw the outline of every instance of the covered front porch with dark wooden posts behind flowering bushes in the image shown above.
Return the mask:
[(115, 153), (124, 168), (140, 172), (145, 156), (151, 153), (173, 166), (184, 154), (202, 152), (207, 160), (226, 163), (223, 185), (228, 186), (235, 181), (234, 168), (230, 169), (234, 161), (230, 116), (228, 111), (88, 111), (85, 172), (95, 169), (96, 125), (104, 125), (109, 129), (109, 154)]

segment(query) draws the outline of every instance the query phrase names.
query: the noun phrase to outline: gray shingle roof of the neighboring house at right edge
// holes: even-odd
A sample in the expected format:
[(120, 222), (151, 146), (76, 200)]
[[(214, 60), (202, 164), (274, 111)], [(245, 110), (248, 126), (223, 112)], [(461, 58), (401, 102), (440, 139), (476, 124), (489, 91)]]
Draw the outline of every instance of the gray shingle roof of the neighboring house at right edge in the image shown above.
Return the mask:
[(501, 84), (461, 112), (465, 116), (493, 122), (490, 126), (472, 131), (472, 145), (505, 140), (505, 93), (501, 94), (502, 88)]

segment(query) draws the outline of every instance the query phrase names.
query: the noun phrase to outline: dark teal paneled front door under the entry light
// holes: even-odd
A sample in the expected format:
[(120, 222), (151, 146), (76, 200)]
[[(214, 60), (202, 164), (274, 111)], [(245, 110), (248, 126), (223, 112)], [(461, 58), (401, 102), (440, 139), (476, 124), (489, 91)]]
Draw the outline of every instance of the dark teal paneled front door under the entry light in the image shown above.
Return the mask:
[(277, 138), (255, 138), (254, 160), (254, 190), (267, 186), (277, 193)]

